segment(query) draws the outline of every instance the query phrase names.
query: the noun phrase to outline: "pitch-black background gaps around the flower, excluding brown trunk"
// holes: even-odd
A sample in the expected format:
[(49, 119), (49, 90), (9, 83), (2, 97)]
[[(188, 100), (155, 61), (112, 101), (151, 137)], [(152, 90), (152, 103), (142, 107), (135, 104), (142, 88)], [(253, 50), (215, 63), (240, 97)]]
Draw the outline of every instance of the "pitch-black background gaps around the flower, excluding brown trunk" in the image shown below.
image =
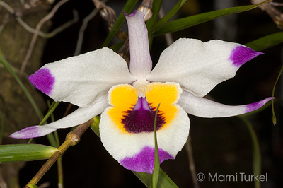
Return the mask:
[[(184, 8), (178, 13), (178, 16), (183, 18), (196, 13), (214, 11), (213, 3), (214, 1), (210, 0), (187, 1)], [(122, 11), (122, 6), (125, 5), (125, 1), (108, 1), (107, 4), (119, 14)], [(166, 0), (163, 4), (170, 7)], [(238, 0), (235, 6), (248, 4), (250, 4), (248, 0)], [(93, 10), (93, 2), (91, 0), (71, 0), (64, 4), (52, 18), (51, 29), (53, 30), (71, 20), (73, 18), (72, 9), (74, 8), (79, 12), (79, 22), (47, 41), (42, 56), (42, 65), (74, 54), (82, 19)], [(265, 35), (281, 31), (272, 22), (272, 19), (259, 8), (238, 13), (236, 17), (231, 19), (233, 20), (231, 21), (231, 27), (236, 28), (234, 30), (236, 34), (230, 35), (231, 32), (229, 33), (228, 29), (231, 28), (227, 28), (227, 31), (222, 30), (224, 35), (220, 35), (221, 38), (217, 37), (217, 39), (246, 44)], [(127, 27), (125, 29), (127, 32)], [(214, 21), (209, 21), (173, 33), (173, 39), (192, 37), (204, 42), (216, 38), (215, 30), (217, 29)], [(107, 23), (99, 15), (95, 16), (88, 23), (88, 28), (84, 33), (81, 53), (100, 48), (107, 35)], [(154, 63), (158, 61), (159, 55), (165, 48), (166, 42), (163, 36), (154, 38), (151, 51)], [(217, 102), (227, 105), (243, 105), (270, 97), (272, 95), (272, 87), (281, 68), (282, 45), (271, 47), (263, 52), (265, 53), (264, 55), (260, 55), (260, 57), (256, 57), (241, 66), (235, 78), (220, 83), (209, 95)], [(260, 143), (262, 174), (265, 175), (267, 173), (268, 175), (267, 182), (262, 182), (263, 188), (282, 187), (281, 88), (281, 82), (279, 82), (275, 92), (275, 97), (277, 98), (275, 103), (277, 114), (276, 126), (272, 124), (271, 107), (267, 107), (265, 110), (258, 112), (258, 114), (249, 117)], [(62, 117), (67, 105), (62, 102), (54, 112), (58, 119)], [(75, 109), (76, 107), (72, 107), (72, 110)], [(238, 173), (237, 182), (209, 182), (204, 180), (200, 182), (200, 187), (253, 187), (253, 182), (239, 181), (240, 172), (245, 172), (246, 175), (253, 175), (253, 150), (246, 124), (237, 117), (203, 119), (192, 115), (189, 116), (196, 172), (203, 172), (206, 176), (208, 173), (212, 175), (215, 173), (218, 175), (236, 175)], [(61, 142), (64, 141), (64, 136), (68, 131), (66, 129), (58, 131)], [(35, 142), (49, 145), (45, 137), (35, 139)], [(43, 163), (45, 161), (27, 163), (25, 168), (21, 170), (21, 187), (25, 186)], [(132, 172), (119, 165), (108, 154), (108, 151), (105, 151), (100, 139), (91, 129), (88, 129), (83, 134), (80, 143), (76, 146), (71, 146), (64, 153), (63, 165), (64, 187), (144, 187), (144, 184)], [(193, 187), (185, 148), (178, 153), (175, 160), (164, 161), (161, 164), (161, 168), (178, 187)], [(44, 182), (50, 182), (50, 187), (57, 187), (56, 165), (47, 172), (38, 185)]]

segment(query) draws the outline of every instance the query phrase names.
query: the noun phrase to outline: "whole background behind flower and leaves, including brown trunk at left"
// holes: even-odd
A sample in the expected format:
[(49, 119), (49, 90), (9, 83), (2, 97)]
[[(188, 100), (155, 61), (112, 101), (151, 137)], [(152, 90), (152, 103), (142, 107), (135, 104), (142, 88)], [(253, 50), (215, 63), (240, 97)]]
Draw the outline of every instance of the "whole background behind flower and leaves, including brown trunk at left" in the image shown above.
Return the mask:
[[(170, 11), (176, 2), (175, 0), (164, 0), (164, 12), (167, 13)], [(125, 3), (126, 1), (124, 0), (113, 0), (108, 1), (106, 4), (112, 7), (118, 15), (122, 11), (123, 6), (125, 6)], [(173, 19), (249, 4), (251, 4), (249, 0), (187, 0)], [(38, 20), (43, 17), (42, 15), (45, 15), (50, 10), (50, 6), (39, 8), (39, 11), (26, 13), (23, 19), (35, 28)], [(30, 60), (33, 63), (29, 62), (25, 73), (28, 75), (33, 74), (43, 64), (73, 56), (82, 20), (93, 11), (93, 8), (94, 5), (91, 0), (71, 0), (59, 8), (54, 17), (45, 24), (43, 30), (54, 30), (54, 28), (58, 28), (60, 25), (74, 19), (72, 12), (74, 9), (79, 14), (79, 21), (50, 39), (44, 40), (39, 37), (36, 42), (36, 52), (33, 53)], [(283, 10), (283, 8), (279, 8), (279, 10)], [(1, 14), (3, 12), (4, 9), (0, 6), (0, 15), (3, 16)], [(3, 17), (1, 18), (4, 20)], [(16, 30), (20, 31), (16, 33)], [(123, 30), (127, 32), (126, 24), (123, 25)], [(251, 11), (217, 18), (216, 20), (172, 33), (172, 37), (174, 41), (180, 37), (188, 37), (197, 38), (203, 42), (219, 39), (246, 44), (265, 35), (280, 31), (267, 13), (260, 10), (260, 8), (255, 8)], [(18, 38), (12, 37), (12, 40), (11, 36), (7, 35), (17, 36)], [(108, 25), (97, 14), (89, 21), (88, 27), (84, 32), (81, 53), (100, 48), (107, 35)], [(31, 37), (33, 37), (33, 34), (23, 30), (13, 19), (9, 20), (9, 23), (0, 34), (1, 50), (6, 59), (16, 69), (20, 69)], [(25, 44), (23, 44), (24, 42)], [(119, 41), (116, 38), (112, 40), (111, 45), (117, 42)], [(14, 49), (17, 45), (18, 47)], [(158, 61), (159, 55), (166, 47), (166, 40), (163, 35), (154, 37), (151, 47), (151, 58), (154, 63)], [(264, 55), (260, 55), (260, 57), (241, 66), (235, 78), (216, 86), (209, 93), (209, 97), (227, 105), (248, 104), (270, 97), (272, 95), (272, 87), (282, 66), (282, 44), (265, 49), (263, 52), (265, 53)], [(9, 100), (10, 102), (6, 99), (6, 96), (11, 96), (12, 94), (3, 94), (0, 98), (1, 113), (4, 114), (5, 121), (2, 143), (18, 143), (19, 140), (7, 139), (8, 134), (23, 127), (38, 124), (39, 121), (35, 117), (33, 108), (28, 104), (25, 95), (18, 88), (17, 83), (6, 83), (7, 79), (13, 80), (13, 78), (6, 73), (6, 70), (0, 69), (0, 71), (1, 92), (4, 93), (4, 90), (5, 92), (8, 92), (7, 90), (15, 90), (13, 93), (15, 96), (11, 98), (11, 101)], [(4, 74), (7, 74), (6, 77), (3, 77)], [(37, 92), (34, 88), (29, 87), (29, 90), (33, 92), (33, 96), (36, 96), (37, 104), (40, 105), (42, 112), (46, 112), (47, 105), (45, 105), (46, 102), (44, 101), (50, 99)], [(281, 180), (283, 177), (282, 81), (279, 81), (277, 84), (275, 97), (277, 98), (277, 102), (275, 103), (277, 113), (276, 126), (272, 124), (271, 107), (267, 107), (265, 110), (249, 117), (260, 143), (262, 174), (265, 175), (267, 173), (268, 175), (268, 181), (262, 182), (262, 187), (283, 186)], [(16, 103), (16, 100), (20, 102)], [(61, 102), (59, 107), (54, 111), (55, 119), (62, 117), (67, 106), (68, 104)], [(75, 109), (75, 106), (71, 107), (71, 111)], [(190, 115), (190, 120), (190, 136), (197, 173), (203, 172), (204, 175), (207, 175), (209, 172), (212, 174), (217, 172), (219, 175), (236, 175), (236, 173), (239, 175), (240, 172), (245, 172), (247, 175), (253, 175), (253, 153), (250, 133), (246, 124), (241, 119), (238, 117), (203, 119)], [(66, 136), (69, 130), (61, 129), (58, 132), (60, 140), (64, 141), (64, 136)], [(21, 142), (27, 143), (25, 140)], [(34, 142), (50, 145), (46, 137), (34, 139)], [(43, 163), (45, 163), (44, 160), (28, 162), (25, 164), (25, 167), (23, 167), (23, 163), (13, 163), (13, 165), (18, 164), (17, 170), (21, 168), (18, 175), (20, 187), (25, 186)], [(116, 160), (113, 160), (108, 152), (105, 151), (105, 148), (103, 148), (98, 136), (91, 129), (88, 129), (83, 134), (79, 144), (69, 148), (64, 153), (63, 166), (64, 187), (144, 187), (144, 184), (132, 172), (123, 168)], [(0, 165), (1, 168), (3, 176), (5, 176), (4, 173), (7, 173), (8, 170), (15, 170), (15, 168), (4, 167), (3, 165)], [(8, 170), (3, 170), (4, 168)], [(193, 186), (185, 148), (178, 153), (175, 160), (164, 161), (161, 164), (161, 168), (171, 177), (178, 187)], [(17, 170), (15, 171), (15, 176), (17, 176)], [(57, 168), (54, 165), (42, 177), (39, 184), (50, 182), (50, 187), (57, 187), (56, 174)], [(254, 186), (254, 182), (241, 181), (209, 182), (204, 180), (199, 183), (200, 187)]]

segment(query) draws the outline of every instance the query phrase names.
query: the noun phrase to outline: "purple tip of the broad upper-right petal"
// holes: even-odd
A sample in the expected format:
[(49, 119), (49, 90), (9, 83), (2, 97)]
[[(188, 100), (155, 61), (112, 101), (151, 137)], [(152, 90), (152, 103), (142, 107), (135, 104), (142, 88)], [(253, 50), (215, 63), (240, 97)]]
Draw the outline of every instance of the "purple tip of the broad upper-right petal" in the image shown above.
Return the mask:
[(253, 49), (245, 46), (238, 46), (232, 50), (231, 56), (229, 59), (233, 61), (233, 66), (239, 68), (250, 59), (257, 57), (258, 55), (263, 54), (262, 52), (255, 52)]

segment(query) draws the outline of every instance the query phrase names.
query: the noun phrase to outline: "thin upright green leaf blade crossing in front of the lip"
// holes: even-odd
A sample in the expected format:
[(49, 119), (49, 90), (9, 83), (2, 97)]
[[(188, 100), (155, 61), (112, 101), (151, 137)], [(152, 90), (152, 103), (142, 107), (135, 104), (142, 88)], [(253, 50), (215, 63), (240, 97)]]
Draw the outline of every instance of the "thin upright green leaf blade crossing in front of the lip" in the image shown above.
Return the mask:
[(154, 117), (154, 172), (152, 173), (151, 186), (150, 186), (152, 188), (157, 187), (159, 168), (160, 168), (157, 135), (156, 135), (156, 119), (157, 119), (159, 106), (160, 106), (160, 104), (158, 104), (158, 106), (156, 108), (155, 117)]

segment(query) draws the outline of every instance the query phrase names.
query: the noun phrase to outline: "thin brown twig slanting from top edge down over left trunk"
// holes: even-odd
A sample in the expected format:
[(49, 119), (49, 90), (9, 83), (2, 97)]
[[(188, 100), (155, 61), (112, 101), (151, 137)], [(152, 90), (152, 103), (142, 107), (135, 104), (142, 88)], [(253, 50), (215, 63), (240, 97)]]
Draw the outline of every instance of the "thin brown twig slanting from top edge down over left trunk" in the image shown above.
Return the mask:
[(54, 8), (52, 9), (52, 11), (50, 11), (50, 13), (47, 14), (47, 16), (45, 16), (44, 18), (42, 18), (40, 20), (40, 22), (36, 25), (36, 28), (35, 28), (35, 34), (33, 35), (33, 39), (31, 40), (30, 42), (30, 47), (28, 48), (28, 53), (26, 54), (25, 56), (25, 59), (23, 61), (23, 64), (21, 66), (21, 70), (20, 70), (20, 74), (19, 76), (23, 75), (23, 71), (25, 71), (25, 66), (28, 64), (28, 60), (30, 59), (30, 56), (31, 54), (33, 53), (33, 47), (35, 46), (35, 42), (37, 40), (37, 36), (38, 36), (38, 33), (40, 31), (40, 28), (42, 27), (42, 25), (47, 21), (47, 20), (50, 20), (50, 18), (52, 18), (54, 16), (54, 13), (56, 13), (56, 11), (58, 10), (58, 8), (60, 6), (62, 6), (64, 3), (66, 3), (67, 1), (69, 0), (62, 0), (62, 1), (59, 1), (55, 6)]

